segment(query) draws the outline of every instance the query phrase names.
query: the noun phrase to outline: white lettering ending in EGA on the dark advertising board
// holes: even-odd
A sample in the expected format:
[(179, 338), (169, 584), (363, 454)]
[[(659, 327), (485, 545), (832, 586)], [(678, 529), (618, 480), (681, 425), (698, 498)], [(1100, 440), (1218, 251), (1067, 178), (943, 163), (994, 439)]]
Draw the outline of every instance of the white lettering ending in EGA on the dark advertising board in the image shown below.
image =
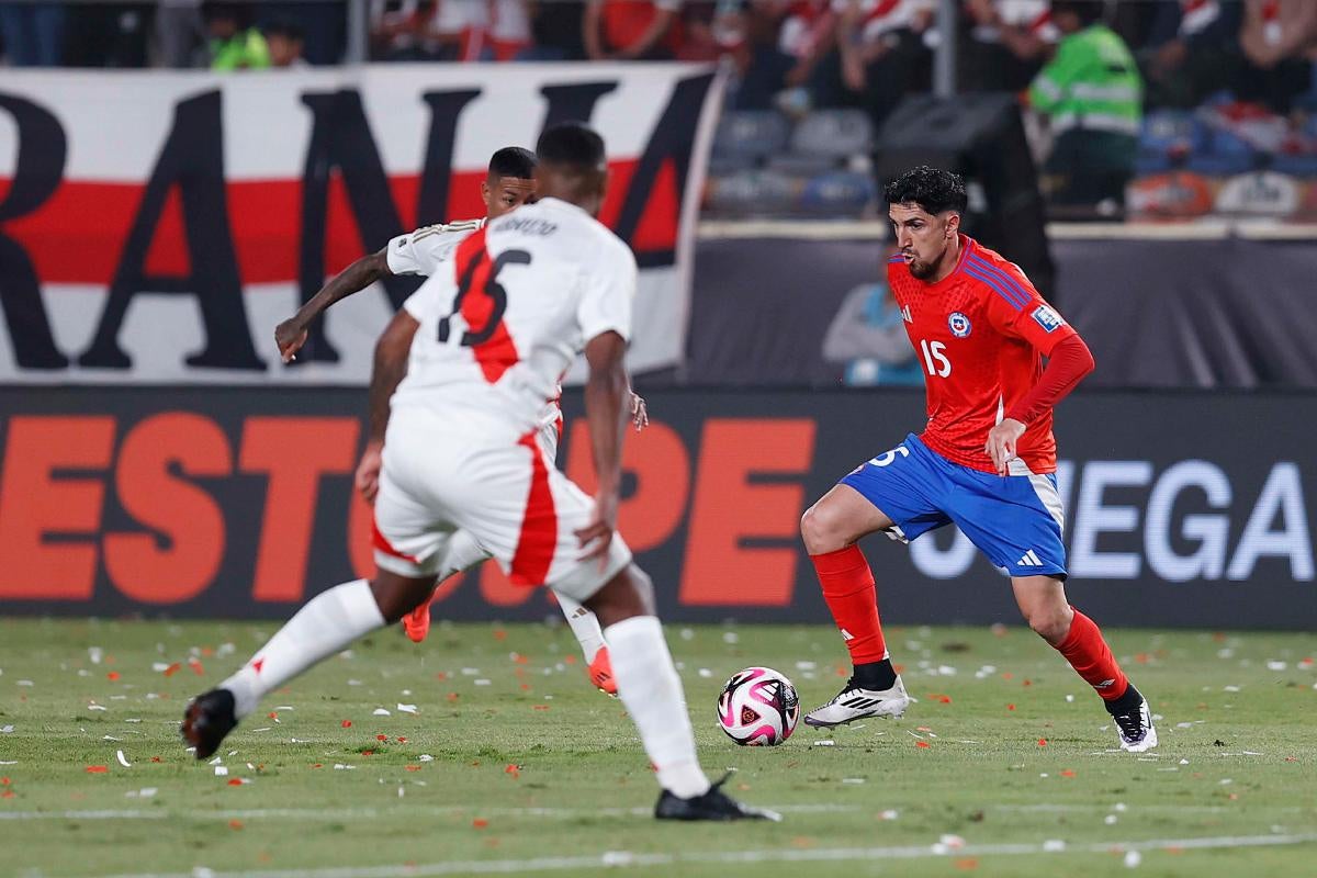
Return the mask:
[[(888, 452), (874, 462), (890, 463), (894, 457)], [(1256, 500), (1246, 507), (1233, 507), (1241, 498), (1227, 469), (1209, 461), (1180, 461), (1159, 474), (1148, 461), (1089, 461), (1081, 467), (1060, 461), (1056, 486), (1067, 508), (1076, 480), (1079, 499), (1067, 516), (1072, 523), (1068, 567), (1076, 579), (1137, 579), (1144, 558), (1148, 571), (1166, 582), (1243, 582), (1255, 575), (1263, 558), (1288, 562), (1295, 582), (1317, 579), (1303, 473), (1292, 461), (1272, 465)], [(1108, 499), (1109, 490), (1148, 487), (1129, 504)], [(1176, 519), (1176, 504), (1200, 492), (1212, 512)], [(1245, 512), (1247, 519), (1231, 552), (1231, 524)], [(910, 559), (925, 577), (954, 579), (969, 573), (979, 550), (959, 528), (951, 532), (946, 548), (939, 545), (944, 536), (910, 544)], [(1117, 540), (1125, 534), (1125, 550), (1100, 550), (1104, 534)], [(1177, 541), (1192, 544), (1192, 549), (1180, 554)], [(1139, 545), (1143, 550), (1134, 550)]]

